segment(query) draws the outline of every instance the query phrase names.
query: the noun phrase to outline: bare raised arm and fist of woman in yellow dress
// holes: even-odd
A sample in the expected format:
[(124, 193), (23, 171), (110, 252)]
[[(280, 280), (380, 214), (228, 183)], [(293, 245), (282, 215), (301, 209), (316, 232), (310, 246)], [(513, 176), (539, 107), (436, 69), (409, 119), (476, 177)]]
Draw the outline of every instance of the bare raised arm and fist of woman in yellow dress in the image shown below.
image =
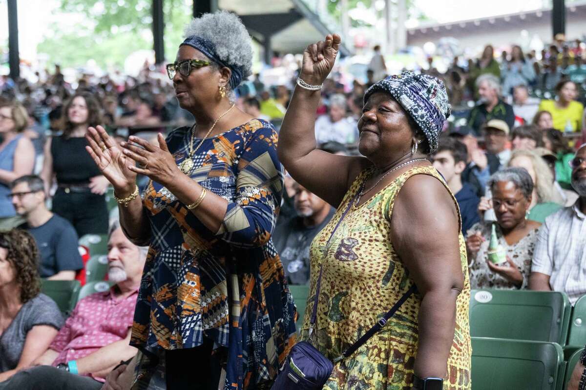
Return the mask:
[[(332, 70), (342, 40), (326, 36), (303, 53), (299, 77), (309, 85), (321, 85)], [(291, 176), (309, 191), (337, 208), (352, 181), (368, 165), (365, 158), (335, 156), (316, 149), (315, 116), (320, 91), (297, 85), (279, 132), (278, 156)]]

